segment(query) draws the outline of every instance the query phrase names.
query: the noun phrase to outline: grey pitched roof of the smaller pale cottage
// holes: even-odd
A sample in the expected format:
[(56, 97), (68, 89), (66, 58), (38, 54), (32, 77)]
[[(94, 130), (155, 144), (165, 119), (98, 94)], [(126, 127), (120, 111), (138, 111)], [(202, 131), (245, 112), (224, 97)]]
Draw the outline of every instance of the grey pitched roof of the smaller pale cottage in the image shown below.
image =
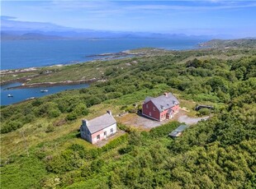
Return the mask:
[(101, 131), (104, 128), (107, 128), (116, 123), (116, 119), (109, 113), (106, 113), (100, 117), (94, 118), (88, 121), (88, 130), (91, 134)]

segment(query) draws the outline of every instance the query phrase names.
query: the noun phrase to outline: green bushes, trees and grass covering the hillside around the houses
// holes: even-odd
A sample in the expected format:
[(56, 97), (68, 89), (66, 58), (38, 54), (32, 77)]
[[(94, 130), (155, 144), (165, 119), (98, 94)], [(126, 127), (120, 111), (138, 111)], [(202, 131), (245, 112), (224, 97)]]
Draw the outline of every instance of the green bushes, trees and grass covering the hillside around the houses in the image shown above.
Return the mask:
[[(1, 108), (2, 188), (256, 187), (255, 49), (159, 51), (89, 64), (106, 69), (107, 81)], [(180, 124), (174, 121), (150, 131), (119, 124), (126, 134), (101, 148), (80, 139), (81, 118), (133, 112), (165, 91), (213, 105), (213, 116), (175, 140), (168, 137)]]

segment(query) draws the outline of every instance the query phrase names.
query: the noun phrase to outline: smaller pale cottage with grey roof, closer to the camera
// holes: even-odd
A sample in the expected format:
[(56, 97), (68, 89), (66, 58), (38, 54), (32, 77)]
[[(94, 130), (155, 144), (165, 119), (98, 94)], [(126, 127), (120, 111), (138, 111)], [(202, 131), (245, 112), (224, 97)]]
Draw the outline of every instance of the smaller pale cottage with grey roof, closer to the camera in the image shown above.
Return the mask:
[(116, 119), (110, 110), (92, 120), (83, 119), (80, 127), (81, 137), (92, 144), (106, 139), (116, 133)]

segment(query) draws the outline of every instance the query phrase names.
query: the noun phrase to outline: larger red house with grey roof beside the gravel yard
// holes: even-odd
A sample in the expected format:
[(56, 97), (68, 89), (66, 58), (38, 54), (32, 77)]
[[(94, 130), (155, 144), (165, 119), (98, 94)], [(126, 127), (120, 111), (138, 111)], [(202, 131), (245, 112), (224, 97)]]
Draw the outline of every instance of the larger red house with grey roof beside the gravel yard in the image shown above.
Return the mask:
[(156, 98), (147, 97), (142, 105), (142, 114), (159, 122), (173, 118), (178, 110), (178, 99), (171, 93), (164, 93)]

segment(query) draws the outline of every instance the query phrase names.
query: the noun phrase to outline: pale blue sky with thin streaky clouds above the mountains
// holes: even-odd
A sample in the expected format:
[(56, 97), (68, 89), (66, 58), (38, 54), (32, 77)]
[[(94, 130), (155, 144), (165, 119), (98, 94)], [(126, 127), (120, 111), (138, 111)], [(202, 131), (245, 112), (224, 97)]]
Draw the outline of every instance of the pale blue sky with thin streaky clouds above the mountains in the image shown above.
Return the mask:
[(2, 1), (1, 20), (79, 29), (256, 36), (256, 1)]

